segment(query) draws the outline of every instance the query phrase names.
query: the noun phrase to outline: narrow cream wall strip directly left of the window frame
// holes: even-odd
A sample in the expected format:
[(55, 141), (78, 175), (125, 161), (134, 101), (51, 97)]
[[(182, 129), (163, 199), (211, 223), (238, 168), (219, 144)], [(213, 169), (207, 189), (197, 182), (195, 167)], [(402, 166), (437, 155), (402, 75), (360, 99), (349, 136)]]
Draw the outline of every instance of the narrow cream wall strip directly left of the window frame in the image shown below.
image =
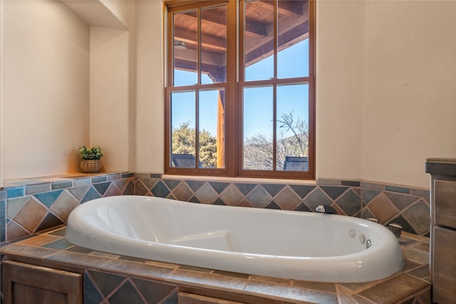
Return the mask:
[(165, 105), (163, 102), (163, 6), (161, 1), (136, 3), (137, 153), (140, 172), (163, 172)]

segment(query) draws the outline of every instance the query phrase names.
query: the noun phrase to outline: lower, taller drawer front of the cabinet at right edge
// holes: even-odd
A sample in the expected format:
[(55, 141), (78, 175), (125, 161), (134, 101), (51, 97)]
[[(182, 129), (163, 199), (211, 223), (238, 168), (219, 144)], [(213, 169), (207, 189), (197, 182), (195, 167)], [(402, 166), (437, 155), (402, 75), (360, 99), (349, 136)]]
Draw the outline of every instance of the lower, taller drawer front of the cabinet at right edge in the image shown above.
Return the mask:
[(456, 303), (456, 231), (434, 228), (432, 299), (435, 303)]

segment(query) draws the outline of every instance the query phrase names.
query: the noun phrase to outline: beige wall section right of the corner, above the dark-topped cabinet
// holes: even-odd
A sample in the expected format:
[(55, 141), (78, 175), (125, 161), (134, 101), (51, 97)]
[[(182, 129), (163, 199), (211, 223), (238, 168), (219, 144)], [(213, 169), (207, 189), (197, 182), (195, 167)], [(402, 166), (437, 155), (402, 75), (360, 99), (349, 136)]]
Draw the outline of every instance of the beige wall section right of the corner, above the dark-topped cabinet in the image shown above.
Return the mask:
[(456, 1), (367, 1), (364, 179), (428, 186), (456, 158)]

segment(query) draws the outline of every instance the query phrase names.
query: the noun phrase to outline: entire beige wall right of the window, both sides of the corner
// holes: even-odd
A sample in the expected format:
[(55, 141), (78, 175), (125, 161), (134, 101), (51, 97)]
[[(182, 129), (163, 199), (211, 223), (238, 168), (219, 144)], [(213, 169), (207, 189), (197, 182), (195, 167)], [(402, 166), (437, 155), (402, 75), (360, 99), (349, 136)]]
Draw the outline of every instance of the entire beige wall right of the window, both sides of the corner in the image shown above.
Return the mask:
[(428, 187), (425, 159), (456, 157), (456, 1), (318, 1), (317, 20), (318, 177)]

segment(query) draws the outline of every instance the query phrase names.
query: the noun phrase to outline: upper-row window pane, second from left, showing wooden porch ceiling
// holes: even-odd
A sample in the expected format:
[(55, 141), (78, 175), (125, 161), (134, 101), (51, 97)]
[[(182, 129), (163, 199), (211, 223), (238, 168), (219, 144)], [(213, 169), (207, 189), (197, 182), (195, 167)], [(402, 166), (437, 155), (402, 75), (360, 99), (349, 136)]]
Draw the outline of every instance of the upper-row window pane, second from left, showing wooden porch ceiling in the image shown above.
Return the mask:
[(227, 6), (201, 10), (201, 83), (227, 81)]

